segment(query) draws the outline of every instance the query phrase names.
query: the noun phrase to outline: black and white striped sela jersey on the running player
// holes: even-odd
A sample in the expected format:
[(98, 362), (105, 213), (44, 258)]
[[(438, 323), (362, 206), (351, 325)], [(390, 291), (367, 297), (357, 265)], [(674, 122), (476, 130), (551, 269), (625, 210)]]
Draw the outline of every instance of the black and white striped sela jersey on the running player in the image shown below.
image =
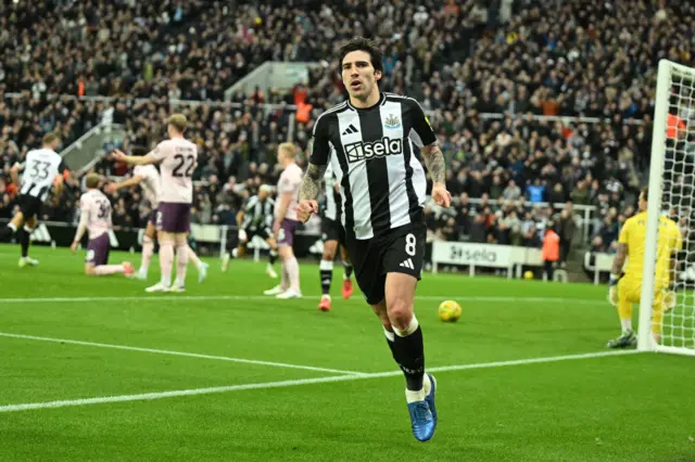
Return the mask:
[(343, 102), (314, 126), (311, 163), (330, 165), (340, 183), (341, 221), (359, 240), (421, 218), (427, 180), (414, 153), (437, 141), (412, 98), (381, 93), (367, 108)]

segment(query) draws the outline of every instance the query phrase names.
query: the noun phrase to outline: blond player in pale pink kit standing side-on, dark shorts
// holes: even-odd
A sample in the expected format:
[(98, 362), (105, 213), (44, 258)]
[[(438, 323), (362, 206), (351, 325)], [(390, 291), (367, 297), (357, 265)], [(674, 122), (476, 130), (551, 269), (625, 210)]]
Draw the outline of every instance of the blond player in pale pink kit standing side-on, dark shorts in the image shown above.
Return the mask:
[(277, 298), (300, 298), (300, 265), (294, 258), (292, 243), (294, 230), (300, 224), (296, 219), (300, 184), (303, 171), (294, 162), (296, 146), (282, 143), (278, 146), (278, 164), (282, 166), (282, 174), (278, 180), (278, 198), (275, 201), (275, 222), (273, 232), (277, 236), (278, 254), (282, 261), (282, 282), (280, 285), (265, 291), (265, 295), (276, 295)]

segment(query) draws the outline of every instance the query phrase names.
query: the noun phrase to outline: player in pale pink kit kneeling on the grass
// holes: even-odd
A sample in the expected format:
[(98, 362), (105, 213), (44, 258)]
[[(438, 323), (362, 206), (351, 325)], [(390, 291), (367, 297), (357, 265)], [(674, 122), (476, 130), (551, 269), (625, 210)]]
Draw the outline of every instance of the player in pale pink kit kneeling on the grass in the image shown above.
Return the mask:
[(87, 192), (79, 198), (79, 224), (77, 226), (77, 232), (75, 232), (73, 245), (70, 248), (74, 254), (85, 235), (85, 231), (87, 231), (89, 232), (89, 243), (87, 244), (85, 274), (109, 275), (121, 273), (129, 277), (135, 272), (129, 261), (124, 261), (121, 265), (108, 265), (109, 231), (112, 228), (111, 202), (109, 197), (99, 191), (100, 182), (101, 177), (97, 174), (89, 174), (85, 178)]

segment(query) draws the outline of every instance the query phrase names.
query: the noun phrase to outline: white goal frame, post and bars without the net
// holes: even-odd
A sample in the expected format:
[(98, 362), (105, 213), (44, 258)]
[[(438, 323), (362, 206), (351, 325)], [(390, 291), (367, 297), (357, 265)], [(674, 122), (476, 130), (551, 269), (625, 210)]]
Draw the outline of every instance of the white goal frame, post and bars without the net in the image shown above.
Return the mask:
[(695, 356), (695, 349), (659, 345), (652, 335), (652, 305), (655, 288), (657, 234), (659, 217), (661, 215), (661, 200), (664, 197), (667, 117), (669, 114), (671, 76), (673, 70), (679, 70), (683, 74), (693, 74), (695, 76), (695, 68), (683, 66), (668, 60), (659, 61), (656, 105), (654, 108), (654, 129), (652, 133), (652, 162), (649, 165), (648, 182), (649, 195), (647, 197), (647, 228), (642, 273), (637, 350)]

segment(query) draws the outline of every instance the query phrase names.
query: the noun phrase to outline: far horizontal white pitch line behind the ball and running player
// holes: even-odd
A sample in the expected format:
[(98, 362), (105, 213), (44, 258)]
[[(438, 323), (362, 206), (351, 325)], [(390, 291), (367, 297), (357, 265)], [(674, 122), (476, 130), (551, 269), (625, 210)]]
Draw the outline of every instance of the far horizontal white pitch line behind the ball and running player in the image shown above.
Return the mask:
[[(320, 295), (304, 295), (305, 299), (316, 300)], [(605, 300), (599, 298), (552, 298), (552, 297), (469, 297), (457, 295), (418, 295), (416, 300), (445, 300), (453, 299), (459, 301), (501, 301), (501, 303), (547, 303), (547, 304), (581, 304), (596, 305)], [(80, 301), (190, 301), (190, 300), (275, 300), (269, 295), (152, 295), (152, 296), (129, 296), (129, 297), (37, 297), (37, 298), (0, 298), (0, 304), (20, 303), (80, 303)], [(362, 298), (359, 298), (362, 300)]]

